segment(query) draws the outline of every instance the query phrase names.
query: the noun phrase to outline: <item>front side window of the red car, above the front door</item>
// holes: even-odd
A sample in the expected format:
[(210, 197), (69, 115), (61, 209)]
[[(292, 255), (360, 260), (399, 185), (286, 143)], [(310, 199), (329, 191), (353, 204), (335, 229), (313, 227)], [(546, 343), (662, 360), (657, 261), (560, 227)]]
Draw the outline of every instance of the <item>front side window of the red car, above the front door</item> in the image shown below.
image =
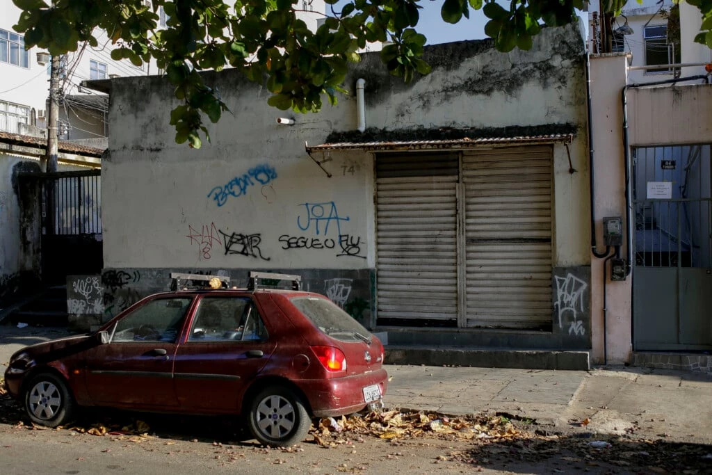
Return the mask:
[(158, 341), (174, 343), (192, 298), (157, 298), (116, 323), (111, 343)]

